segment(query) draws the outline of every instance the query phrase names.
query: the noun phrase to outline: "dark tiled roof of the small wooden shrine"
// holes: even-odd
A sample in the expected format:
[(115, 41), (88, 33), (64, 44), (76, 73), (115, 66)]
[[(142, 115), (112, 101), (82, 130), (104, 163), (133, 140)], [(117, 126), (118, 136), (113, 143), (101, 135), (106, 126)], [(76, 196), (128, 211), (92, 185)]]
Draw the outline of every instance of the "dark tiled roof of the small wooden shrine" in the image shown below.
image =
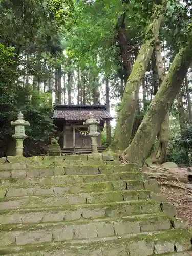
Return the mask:
[(89, 113), (94, 115), (96, 120), (112, 120), (106, 105), (55, 105), (53, 119), (63, 119), (66, 121), (85, 121)]

